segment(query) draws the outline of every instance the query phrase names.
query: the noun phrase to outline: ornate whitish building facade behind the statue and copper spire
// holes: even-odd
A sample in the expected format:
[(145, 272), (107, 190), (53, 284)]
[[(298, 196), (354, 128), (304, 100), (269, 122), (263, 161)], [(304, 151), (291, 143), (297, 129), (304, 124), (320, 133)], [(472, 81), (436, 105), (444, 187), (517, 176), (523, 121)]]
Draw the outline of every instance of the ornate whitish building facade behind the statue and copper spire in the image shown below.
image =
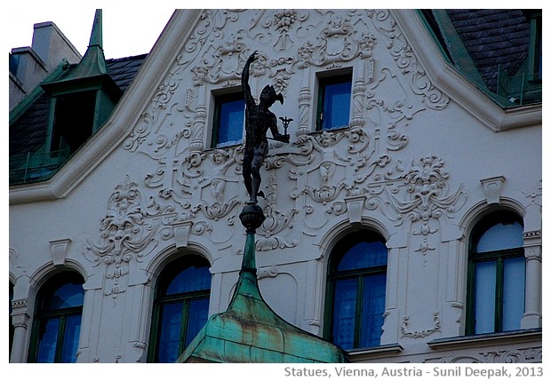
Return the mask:
[(228, 308), (247, 194), (224, 105), (255, 51), (253, 95), (272, 84), (292, 119), (256, 235), (275, 313), (351, 362), (541, 361), (541, 101), (484, 90), (426, 21), (174, 12), (101, 128), (51, 178), (10, 187), (11, 361), (173, 361), (187, 325)]

